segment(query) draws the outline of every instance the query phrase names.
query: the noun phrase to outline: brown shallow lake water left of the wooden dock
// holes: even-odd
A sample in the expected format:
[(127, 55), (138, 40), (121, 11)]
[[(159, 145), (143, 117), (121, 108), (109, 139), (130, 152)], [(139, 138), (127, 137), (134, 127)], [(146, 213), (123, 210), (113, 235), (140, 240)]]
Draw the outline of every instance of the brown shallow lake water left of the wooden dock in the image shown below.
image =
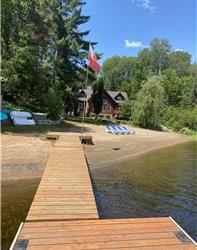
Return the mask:
[(2, 182), (1, 249), (9, 249), (20, 223), (26, 218), (40, 179)]

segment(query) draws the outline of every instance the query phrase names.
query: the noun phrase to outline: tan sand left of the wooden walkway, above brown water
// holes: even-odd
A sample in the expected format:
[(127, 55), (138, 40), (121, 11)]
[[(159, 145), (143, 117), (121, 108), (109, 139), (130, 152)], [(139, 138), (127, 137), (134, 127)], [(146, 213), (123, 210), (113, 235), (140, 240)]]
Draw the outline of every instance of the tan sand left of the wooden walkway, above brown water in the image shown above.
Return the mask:
[(1, 136), (2, 180), (35, 178), (42, 175), (52, 142), (39, 135), (8, 134)]

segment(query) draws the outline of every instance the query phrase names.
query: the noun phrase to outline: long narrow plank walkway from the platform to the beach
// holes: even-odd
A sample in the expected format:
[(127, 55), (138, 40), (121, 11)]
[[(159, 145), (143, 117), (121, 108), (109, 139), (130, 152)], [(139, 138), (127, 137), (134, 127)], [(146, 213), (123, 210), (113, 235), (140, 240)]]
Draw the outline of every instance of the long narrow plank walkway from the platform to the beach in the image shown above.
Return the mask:
[(59, 133), (26, 221), (98, 218), (79, 135)]

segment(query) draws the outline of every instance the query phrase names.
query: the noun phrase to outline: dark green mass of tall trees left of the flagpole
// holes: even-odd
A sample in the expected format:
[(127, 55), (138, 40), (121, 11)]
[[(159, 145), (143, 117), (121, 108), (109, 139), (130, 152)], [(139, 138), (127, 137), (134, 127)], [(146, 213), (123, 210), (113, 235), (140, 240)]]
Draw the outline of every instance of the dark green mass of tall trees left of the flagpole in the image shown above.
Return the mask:
[[(89, 32), (79, 30), (89, 20), (82, 15), (84, 4), (82, 0), (2, 0), (4, 99), (12, 96), (32, 111), (49, 110), (51, 117), (59, 113), (58, 103), (68, 99), (65, 89), (76, 90), (86, 66), (89, 42), (84, 37)], [(55, 97), (51, 88), (56, 89)], [(46, 98), (48, 90), (53, 104), (58, 99), (54, 109)]]

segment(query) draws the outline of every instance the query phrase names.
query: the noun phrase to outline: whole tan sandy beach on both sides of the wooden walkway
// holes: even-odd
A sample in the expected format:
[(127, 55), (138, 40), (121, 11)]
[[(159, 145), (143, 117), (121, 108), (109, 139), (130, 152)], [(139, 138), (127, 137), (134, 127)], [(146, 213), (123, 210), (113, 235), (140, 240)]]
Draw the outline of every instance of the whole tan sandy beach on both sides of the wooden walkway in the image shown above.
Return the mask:
[[(132, 128), (134, 135), (112, 135), (103, 126), (85, 124), (85, 134), (93, 136), (94, 145), (84, 145), (90, 168), (107, 166), (158, 148), (192, 140), (172, 132)], [(80, 123), (73, 122), (70, 132), (79, 133)], [(3, 134), (2, 179), (34, 178), (42, 175), (53, 142), (45, 134)]]

